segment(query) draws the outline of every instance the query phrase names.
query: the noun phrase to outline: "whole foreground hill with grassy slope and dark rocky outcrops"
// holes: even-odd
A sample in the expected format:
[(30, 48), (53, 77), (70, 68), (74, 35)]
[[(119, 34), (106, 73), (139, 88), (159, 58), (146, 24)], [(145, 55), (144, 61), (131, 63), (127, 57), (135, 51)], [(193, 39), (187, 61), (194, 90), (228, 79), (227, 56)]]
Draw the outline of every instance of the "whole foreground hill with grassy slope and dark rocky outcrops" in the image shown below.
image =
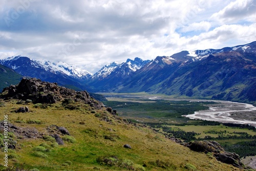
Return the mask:
[[(0, 98), (5, 116), (0, 148), (6, 149), (0, 158), (8, 156), (7, 165), (15, 170), (244, 169), (238, 156), (214, 142), (181, 144), (118, 117), (118, 111), (104, 108), (86, 91), (24, 78), (5, 88)], [(0, 164), (0, 169), (5, 167)]]

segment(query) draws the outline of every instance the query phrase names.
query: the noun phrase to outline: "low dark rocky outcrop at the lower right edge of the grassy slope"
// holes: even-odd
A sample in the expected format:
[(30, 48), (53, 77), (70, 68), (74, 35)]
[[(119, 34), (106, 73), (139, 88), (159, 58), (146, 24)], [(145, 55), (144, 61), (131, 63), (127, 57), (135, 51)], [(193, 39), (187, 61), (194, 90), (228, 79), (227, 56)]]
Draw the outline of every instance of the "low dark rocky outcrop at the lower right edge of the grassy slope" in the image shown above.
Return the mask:
[(243, 168), (244, 165), (241, 162), (239, 155), (236, 153), (226, 152), (218, 142), (216, 141), (191, 141), (186, 146), (196, 152), (212, 153), (212, 155), (219, 161), (233, 166)]

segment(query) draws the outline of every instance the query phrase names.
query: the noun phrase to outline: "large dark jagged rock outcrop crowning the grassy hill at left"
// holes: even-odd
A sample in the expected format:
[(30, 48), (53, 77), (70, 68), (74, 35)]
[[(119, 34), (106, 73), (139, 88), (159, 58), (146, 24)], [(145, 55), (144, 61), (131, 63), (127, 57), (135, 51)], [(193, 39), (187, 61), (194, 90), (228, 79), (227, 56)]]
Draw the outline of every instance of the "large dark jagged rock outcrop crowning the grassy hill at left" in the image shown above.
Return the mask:
[(23, 78), (18, 85), (5, 88), (0, 99), (32, 100), (33, 103), (41, 104), (53, 104), (72, 99), (74, 102), (89, 104), (97, 109), (103, 107), (103, 104), (91, 97), (87, 91), (75, 91), (58, 86), (57, 83), (44, 82), (36, 78)]

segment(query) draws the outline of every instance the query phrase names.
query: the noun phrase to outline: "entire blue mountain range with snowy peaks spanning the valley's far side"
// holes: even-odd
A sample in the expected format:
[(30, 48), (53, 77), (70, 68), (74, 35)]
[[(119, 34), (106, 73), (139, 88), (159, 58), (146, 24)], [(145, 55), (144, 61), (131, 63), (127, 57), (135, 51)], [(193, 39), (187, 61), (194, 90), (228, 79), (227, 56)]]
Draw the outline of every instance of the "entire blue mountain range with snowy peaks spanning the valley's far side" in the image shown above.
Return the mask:
[(218, 50), (127, 59), (95, 74), (64, 62), (10, 57), (0, 64), (22, 76), (90, 92), (148, 92), (256, 103), (256, 41)]

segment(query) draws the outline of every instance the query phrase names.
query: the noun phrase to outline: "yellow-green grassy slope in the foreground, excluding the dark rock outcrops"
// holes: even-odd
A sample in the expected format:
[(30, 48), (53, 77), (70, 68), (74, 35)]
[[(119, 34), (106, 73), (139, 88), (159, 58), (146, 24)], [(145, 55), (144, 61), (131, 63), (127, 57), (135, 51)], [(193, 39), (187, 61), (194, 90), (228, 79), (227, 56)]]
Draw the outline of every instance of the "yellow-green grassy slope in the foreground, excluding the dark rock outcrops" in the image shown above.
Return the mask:
[[(61, 103), (17, 104), (16, 100), (0, 103), (1, 120), (8, 115), (8, 121), (18, 127), (17, 130), (24, 129), (36, 136), (9, 133), (9, 139), (17, 142), (15, 150), (8, 152), (9, 166), (40, 171), (240, 170), (210, 155), (191, 151), (146, 126), (130, 124), (105, 109), (81, 105), (77, 110), (69, 110)], [(28, 106), (30, 112), (15, 113), (21, 106)], [(57, 145), (49, 137), (56, 132), (52, 125), (69, 131), (70, 136), (60, 135), (65, 144)], [(124, 144), (131, 145), (132, 149), (124, 148)], [(0, 153), (0, 160), (4, 155)], [(4, 167), (2, 161), (1, 167)]]

